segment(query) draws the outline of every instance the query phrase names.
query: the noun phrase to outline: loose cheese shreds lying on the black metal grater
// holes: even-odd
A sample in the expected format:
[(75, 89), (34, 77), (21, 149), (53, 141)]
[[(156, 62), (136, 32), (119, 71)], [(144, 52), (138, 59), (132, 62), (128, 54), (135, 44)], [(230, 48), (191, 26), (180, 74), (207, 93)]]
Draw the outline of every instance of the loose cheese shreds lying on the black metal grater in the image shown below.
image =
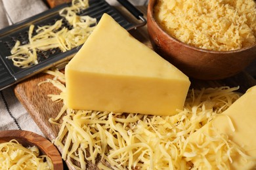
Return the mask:
[[(53, 25), (38, 26), (30, 25), (28, 31), (28, 44), (16, 41), (11, 56), (16, 67), (26, 68), (38, 63), (37, 51), (60, 48), (62, 52), (71, 50), (83, 44), (96, 25), (96, 18), (89, 16), (78, 16), (77, 12), (89, 7), (88, 0), (73, 0), (72, 6), (60, 10), (60, 16), (64, 17), (72, 29), (64, 27), (63, 20), (57, 20)], [(35, 35), (33, 33), (35, 32)]]

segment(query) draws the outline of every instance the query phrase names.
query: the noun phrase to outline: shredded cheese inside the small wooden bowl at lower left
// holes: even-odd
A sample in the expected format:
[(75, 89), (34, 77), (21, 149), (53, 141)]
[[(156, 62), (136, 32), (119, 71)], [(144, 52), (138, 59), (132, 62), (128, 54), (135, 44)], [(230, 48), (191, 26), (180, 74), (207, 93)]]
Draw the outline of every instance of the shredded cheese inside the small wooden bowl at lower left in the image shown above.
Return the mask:
[[(46, 161), (45, 161), (46, 159)], [(48, 156), (39, 156), (37, 146), (25, 148), (15, 139), (0, 144), (0, 169), (53, 169)]]

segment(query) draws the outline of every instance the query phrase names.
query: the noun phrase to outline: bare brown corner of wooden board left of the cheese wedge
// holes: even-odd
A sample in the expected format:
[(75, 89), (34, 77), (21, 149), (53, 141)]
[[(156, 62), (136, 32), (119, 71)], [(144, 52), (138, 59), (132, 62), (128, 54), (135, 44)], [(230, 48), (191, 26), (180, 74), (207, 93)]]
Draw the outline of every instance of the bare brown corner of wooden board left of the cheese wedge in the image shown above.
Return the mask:
[(58, 94), (60, 90), (54, 88), (52, 84), (39, 82), (53, 78), (51, 75), (39, 73), (26, 81), (18, 84), (14, 88), (14, 93), (18, 100), (28, 110), (37, 126), (41, 129), (45, 137), (52, 140), (58, 134), (58, 127), (49, 123), (49, 118), (56, 116), (62, 107), (62, 103), (51, 101), (49, 94)]

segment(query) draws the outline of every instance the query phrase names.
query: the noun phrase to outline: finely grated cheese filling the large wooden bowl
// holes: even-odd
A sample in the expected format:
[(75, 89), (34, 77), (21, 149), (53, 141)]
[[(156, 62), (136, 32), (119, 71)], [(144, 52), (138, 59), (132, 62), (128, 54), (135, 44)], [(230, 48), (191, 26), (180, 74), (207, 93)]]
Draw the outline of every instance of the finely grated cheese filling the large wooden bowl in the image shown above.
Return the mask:
[(253, 0), (158, 0), (154, 12), (169, 35), (198, 48), (228, 51), (256, 42)]

